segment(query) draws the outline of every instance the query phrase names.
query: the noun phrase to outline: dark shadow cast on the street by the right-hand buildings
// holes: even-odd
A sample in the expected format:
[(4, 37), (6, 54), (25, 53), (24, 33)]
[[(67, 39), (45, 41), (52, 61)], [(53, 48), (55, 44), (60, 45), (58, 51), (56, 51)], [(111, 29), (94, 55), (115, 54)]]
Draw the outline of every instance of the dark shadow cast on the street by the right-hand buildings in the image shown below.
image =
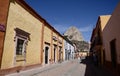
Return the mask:
[(84, 76), (114, 76), (107, 69), (94, 65), (92, 59), (87, 57), (82, 59), (80, 64), (86, 65), (85, 75)]

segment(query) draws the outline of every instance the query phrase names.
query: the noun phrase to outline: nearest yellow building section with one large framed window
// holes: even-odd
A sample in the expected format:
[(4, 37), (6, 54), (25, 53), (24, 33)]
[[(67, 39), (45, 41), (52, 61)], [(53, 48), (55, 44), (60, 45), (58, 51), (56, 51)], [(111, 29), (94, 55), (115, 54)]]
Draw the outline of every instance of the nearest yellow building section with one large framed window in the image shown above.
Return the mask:
[(10, 2), (1, 69), (40, 64), (42, 21), (27, 4)]

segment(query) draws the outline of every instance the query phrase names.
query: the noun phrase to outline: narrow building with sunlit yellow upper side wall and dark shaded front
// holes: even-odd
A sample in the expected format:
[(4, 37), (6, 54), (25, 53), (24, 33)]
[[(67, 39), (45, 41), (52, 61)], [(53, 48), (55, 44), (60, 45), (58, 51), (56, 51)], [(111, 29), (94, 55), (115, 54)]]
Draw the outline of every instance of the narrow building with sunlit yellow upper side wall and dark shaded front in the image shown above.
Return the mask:
[(105, 60), (105, 53), (103, 47), (103, 29), (109, 21), (111, 15), (99, 16), (91, 36), (91, 52), (98, 57), (98, 64), (103, 64)]

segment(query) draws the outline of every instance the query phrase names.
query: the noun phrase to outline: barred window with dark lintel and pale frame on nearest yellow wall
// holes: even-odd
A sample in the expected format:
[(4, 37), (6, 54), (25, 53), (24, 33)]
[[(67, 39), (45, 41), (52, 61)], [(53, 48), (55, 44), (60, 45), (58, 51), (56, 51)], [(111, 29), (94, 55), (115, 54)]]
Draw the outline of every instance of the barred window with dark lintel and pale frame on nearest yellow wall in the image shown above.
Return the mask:
[(26, 54), (26, 46), (28, 44), (28, 41), (30, 41), (30, 34), (26, 31), (23, 31), (19, 28), (15, 28), (15, 37), (14, 41), (16, 44), (15, 47), (15, 54), (16, 56), (24, 56)]

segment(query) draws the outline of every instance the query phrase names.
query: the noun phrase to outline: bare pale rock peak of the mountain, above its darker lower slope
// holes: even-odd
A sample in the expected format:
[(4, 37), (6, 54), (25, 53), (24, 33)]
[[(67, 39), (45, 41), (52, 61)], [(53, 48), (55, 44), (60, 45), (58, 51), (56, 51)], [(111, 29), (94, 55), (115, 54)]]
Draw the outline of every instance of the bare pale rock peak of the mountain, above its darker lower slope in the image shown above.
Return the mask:
[(67, 36), (67, 38), (72, 41), (84, 41), (83, 36), (81, 32), (75, 27), (71, 26), (65, 33), (64, 36)]

